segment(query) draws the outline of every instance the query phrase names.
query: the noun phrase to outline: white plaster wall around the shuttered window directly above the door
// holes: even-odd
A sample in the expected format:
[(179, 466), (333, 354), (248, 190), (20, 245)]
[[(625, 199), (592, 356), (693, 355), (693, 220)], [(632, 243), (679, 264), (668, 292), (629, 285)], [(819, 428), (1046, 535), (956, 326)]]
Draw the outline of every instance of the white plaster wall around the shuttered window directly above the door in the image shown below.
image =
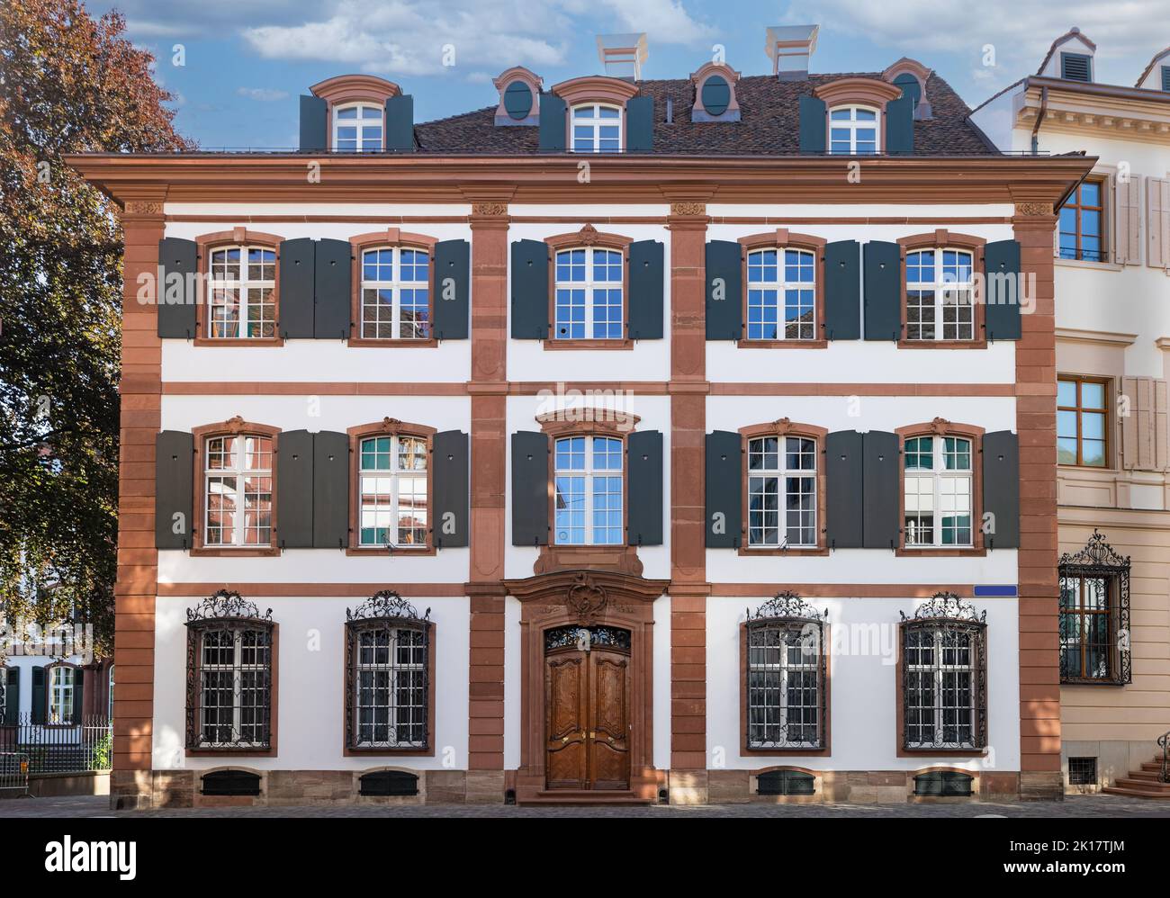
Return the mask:
[(511, 434), (517, 430), (539, 430), (536, 415), (559, 408), (584, 407), (618, 409), (638, 415), (638, 430), (658, 430), (662, 434), (662, 545), (642, 546), (638, 557), (642, 561), (642, 576), (651, 580), (670, 579), (670, 398), (617, 394), (594, 396), (574, 401), (570, 396), (509, 396), (508, 398), (508, 465), (504, 496), (508, 497), (508, 513), (504, 516), (504, 575), (521, 578), (532, 575), (532, 565), (539, 555), (535, 546), (511, 544)]

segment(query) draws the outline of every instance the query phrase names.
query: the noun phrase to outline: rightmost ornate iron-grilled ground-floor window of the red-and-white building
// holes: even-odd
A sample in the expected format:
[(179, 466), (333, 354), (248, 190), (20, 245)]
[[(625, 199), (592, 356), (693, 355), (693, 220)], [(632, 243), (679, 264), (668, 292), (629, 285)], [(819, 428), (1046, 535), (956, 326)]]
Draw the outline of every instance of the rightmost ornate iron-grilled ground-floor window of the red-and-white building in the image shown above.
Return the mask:
[(951, 593), (902, 614), (903, 748), (986, 746), (986, 616)]

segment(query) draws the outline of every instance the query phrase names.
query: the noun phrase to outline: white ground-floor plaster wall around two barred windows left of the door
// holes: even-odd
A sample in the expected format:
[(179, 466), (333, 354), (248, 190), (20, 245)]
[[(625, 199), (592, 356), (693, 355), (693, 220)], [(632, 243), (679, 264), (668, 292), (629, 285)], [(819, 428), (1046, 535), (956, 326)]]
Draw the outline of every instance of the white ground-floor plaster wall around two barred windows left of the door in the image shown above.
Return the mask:
[[(246, 596), (247, 597), (247, 596)], [(435, 623), (435, 755), (343, 755), (345, 609), (360, 599), (257, 599), (280, 624), (277, 754), (246, 758), (256, 769), (349, 771), (377, 766), (466, 769), (470, 602), (464, 596), (404, 596)], [(207, 769), (222, 755), (185, 757), (186, 609), (198, 599), (159, 597), (154, 603), (154, 769)], [(314, 648), (318, 645), (318, 648)]]

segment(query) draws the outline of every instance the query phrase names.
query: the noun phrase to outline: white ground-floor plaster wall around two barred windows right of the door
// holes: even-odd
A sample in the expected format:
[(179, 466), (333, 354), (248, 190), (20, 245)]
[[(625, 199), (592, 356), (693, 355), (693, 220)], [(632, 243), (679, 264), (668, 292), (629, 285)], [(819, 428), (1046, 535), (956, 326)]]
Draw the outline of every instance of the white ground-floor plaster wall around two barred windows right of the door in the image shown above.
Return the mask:
[[(815, 599), (828, 610), (842, 652), (830, 662), (830, 755), (741, 754), (739, 624), (766, 599), (707, 600), (707, 751), (710, 767), (756, 769), (794, 765), (821, 771), (907, 771), (934, 764), (1018, 771), (1019, 624), (1014, 599), (976, 599), (987, 612), (987, 744), (985, 758), (897, 757), (897, 624), (924, 600)], [(876, 624), (876, 629), (874, 626)], [(841, 634), (848, 631), (846, 640)], [(873, 634), (876, 634), (874, 636)]]

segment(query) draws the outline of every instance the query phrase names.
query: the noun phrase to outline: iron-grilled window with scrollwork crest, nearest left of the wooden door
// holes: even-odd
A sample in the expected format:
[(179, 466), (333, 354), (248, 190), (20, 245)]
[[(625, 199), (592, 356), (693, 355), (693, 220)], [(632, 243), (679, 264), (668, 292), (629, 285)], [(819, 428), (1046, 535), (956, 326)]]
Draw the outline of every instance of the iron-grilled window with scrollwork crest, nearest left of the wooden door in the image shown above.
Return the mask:
[(431, 609), (383, 589), (345, 612), (345, 733), (352, 751), (431, 746)]

